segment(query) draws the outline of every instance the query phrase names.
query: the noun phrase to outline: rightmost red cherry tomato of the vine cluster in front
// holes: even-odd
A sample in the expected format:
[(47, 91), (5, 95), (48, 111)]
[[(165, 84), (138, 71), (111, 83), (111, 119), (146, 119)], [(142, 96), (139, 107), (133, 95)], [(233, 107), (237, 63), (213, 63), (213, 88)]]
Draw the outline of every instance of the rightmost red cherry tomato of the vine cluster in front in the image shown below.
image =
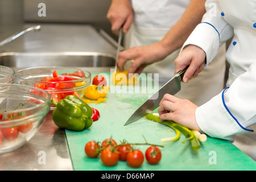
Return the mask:
[(162, 153), (158, 147), (151, 146), (147, 148), (145, 156), (148, 163), (158, 164), (160, 162), (160, 159), (162, 158)]

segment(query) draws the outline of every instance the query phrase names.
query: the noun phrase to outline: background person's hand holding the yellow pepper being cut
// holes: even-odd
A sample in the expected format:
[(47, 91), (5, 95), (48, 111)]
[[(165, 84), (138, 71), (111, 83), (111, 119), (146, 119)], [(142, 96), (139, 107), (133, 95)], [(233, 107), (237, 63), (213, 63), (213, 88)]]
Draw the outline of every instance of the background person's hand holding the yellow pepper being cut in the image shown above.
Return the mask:
[(117, 65), (119, 70), (123, 71), (125, 63), (133, 60), (128, 73), (141, 74), (147, 65), (163, 60), (164, 57), (168, 56), (168, 53), (168, 50), (160, 42), (148, 46), (132, 47), (119, 53)]

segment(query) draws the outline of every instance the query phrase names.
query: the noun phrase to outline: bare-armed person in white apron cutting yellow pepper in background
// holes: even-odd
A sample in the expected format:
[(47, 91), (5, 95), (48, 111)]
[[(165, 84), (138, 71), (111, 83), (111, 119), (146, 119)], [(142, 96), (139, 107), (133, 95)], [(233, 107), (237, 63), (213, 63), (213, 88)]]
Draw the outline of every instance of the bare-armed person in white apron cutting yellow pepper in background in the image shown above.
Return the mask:
[[(118, 67), (131, 72), (159, 74), (160, 85), (174, 76), (174, 60), (205, 13), (205, 0), (112, 0), (108, 19), (113, 32), (123, 24), (129, 44), (119, 53)], [(133, 23), (133, 24), (132, 24)], [(134, 60), (134, 61), (129, 61)], [(197, 80), (181, 83), (179, 98), (202, 105), (224, 88), (225, 45), (216, 61)]]

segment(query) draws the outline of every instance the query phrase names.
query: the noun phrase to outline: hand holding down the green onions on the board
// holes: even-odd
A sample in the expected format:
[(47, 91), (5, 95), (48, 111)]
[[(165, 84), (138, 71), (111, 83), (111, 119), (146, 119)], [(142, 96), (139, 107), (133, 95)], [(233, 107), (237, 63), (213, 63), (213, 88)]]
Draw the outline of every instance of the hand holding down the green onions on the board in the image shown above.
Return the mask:
[(161, 121), (171, 120), (191, 130), (201, 131), (196, 123), (196, 106), (191, 101), (165, 94), (159, 104), (159, 117)]

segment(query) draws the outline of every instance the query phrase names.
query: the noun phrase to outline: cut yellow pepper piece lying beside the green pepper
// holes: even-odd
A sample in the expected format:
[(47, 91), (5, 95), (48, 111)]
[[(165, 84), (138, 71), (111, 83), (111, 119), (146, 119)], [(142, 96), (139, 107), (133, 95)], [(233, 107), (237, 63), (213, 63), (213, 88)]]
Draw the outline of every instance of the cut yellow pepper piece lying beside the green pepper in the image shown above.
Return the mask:
[(109, 86), (89, 85), (85, 90), (84, 96), (90, 100), (98, 100), (98, 98), (106, 97), (109, 89)]

